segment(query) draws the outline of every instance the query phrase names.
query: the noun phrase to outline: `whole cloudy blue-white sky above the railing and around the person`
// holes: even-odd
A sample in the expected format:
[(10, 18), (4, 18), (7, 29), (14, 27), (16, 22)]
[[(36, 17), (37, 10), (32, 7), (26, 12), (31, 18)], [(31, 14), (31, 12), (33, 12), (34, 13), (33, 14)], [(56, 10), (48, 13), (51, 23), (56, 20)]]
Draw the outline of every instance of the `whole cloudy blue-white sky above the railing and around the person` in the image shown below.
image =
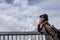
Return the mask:
[(0, 0), (0, 31), (36, 31), (39, 16), (60, 29), (60, 0)]

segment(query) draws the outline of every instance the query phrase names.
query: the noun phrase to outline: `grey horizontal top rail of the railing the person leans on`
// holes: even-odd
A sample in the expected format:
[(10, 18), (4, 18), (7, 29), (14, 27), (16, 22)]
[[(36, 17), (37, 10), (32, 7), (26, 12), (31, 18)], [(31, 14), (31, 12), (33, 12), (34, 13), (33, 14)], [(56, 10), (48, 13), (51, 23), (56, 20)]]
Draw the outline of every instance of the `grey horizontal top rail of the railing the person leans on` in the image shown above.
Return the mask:
[(0, 32), (0, 35), (42, 35), (39, 32)]

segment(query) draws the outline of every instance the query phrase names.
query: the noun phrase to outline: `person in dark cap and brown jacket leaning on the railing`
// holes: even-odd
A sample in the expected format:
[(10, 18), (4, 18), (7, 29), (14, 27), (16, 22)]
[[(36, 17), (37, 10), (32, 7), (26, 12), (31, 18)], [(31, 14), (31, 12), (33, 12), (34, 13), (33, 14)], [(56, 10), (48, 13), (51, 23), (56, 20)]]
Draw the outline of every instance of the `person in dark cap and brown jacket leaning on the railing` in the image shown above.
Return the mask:
[(47, 14), (40, 15), (38, 32), (44, 33), (46, 40), (58, 40), (57, 34), (54, 32), (54, 30), (51, 28), (48, 22)]

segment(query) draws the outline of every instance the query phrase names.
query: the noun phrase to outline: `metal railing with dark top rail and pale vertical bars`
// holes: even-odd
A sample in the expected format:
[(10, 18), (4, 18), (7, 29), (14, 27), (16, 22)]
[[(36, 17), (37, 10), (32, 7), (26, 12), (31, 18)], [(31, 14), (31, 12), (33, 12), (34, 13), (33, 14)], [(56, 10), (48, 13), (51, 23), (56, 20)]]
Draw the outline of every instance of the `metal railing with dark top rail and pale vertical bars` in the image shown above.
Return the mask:
[(44, 40), (39, 32), (0, 32), (0, 40)]

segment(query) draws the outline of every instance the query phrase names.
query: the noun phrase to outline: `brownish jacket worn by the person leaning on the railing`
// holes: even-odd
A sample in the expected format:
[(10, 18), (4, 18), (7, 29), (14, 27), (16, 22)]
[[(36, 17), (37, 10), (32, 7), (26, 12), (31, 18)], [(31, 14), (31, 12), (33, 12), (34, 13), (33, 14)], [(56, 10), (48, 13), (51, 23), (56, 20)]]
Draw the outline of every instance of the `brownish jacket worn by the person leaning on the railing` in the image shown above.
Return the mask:
[(43, 32), (45, 34), (46, 40), (58, 40), (57, 34), (51, 28), (49, 23), (44, 23), (42, 27), (39, 24), (38, 32)]

